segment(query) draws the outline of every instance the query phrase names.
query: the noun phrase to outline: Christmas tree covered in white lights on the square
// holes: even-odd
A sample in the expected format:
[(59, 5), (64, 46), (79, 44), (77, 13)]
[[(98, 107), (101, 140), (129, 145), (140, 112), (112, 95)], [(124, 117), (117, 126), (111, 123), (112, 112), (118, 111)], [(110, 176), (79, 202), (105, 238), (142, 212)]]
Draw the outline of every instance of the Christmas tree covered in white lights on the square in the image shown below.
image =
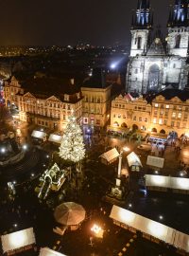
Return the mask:
[(82, 131), (77, 124), (77, 119), (74, 117), (73, 112), (69, 117), (62, 137), (59, 155), (62, 159), (75, 163), (85, 157)]

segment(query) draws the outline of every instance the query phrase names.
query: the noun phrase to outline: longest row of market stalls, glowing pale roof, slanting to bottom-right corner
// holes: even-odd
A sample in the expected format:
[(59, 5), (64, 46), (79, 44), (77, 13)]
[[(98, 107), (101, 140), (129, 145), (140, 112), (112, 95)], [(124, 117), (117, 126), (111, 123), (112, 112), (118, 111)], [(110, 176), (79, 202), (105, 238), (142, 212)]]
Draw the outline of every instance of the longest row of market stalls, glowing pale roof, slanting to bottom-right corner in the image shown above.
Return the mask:
[(150, 220), (130, 210), (113, 206), (110, 217), (113, 223), (132, 232), (141, 231), (143, 237), (153, 242), (164, 243), (179, 248), (183, 254), (189, 252), (189, 235), (176, 229), (169, 228), (162, 223)]

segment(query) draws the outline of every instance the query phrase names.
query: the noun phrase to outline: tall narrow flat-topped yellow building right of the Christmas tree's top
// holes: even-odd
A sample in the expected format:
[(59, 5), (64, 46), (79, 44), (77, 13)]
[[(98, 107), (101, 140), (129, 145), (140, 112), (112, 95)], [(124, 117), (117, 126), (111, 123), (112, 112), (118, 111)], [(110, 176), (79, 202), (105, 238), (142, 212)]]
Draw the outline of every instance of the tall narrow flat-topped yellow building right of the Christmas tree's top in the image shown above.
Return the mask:
[(85, 82), (81, 87), (83, 96), (82, 122), (86, 127), (104, 127), (111, 114), (112, 85), (102, 82)]

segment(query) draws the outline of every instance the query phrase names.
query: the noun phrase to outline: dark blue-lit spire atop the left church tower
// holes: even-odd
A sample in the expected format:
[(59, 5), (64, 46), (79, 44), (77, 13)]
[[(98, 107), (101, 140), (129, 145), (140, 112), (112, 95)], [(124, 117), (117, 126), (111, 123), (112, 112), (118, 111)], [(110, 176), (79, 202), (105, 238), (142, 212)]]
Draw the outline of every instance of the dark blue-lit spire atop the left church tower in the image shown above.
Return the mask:
[(151, 10), (149, 0), (138, 0), (135, 21), (132, 19), (132, 28), (148, 29), (151, 24)]

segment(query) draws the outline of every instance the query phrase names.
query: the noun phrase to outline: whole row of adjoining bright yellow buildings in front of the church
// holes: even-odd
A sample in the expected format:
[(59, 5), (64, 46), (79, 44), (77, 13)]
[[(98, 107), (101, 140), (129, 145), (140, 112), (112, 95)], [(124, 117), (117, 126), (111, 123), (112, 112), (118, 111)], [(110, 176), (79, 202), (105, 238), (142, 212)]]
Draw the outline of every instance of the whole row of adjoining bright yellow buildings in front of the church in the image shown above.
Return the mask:
[(151, 103), (143, 97), (129, 99), (128, 95), (112, 101), (112, 127), (126, 127), (140, 131), (169, 134), (172, 131), (189, 133), (189, 91), (166, 89)]

